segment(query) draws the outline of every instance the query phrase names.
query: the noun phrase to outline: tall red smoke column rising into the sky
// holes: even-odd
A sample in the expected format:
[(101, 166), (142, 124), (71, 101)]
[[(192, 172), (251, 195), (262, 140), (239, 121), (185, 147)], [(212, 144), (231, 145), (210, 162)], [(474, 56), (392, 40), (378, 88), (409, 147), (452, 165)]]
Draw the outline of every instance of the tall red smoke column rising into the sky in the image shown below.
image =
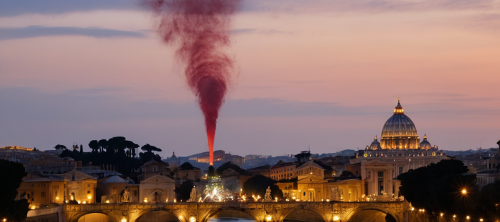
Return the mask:
[(213, 165), (217, 117), (231, 83), (233, 60), (224, 52), (230, 45), (231, 15), (240, 0), (142, 0), (158, 19), (158, 33), (178, 46), (176, 58), (185, 63), (188, 86), (197, 96)]

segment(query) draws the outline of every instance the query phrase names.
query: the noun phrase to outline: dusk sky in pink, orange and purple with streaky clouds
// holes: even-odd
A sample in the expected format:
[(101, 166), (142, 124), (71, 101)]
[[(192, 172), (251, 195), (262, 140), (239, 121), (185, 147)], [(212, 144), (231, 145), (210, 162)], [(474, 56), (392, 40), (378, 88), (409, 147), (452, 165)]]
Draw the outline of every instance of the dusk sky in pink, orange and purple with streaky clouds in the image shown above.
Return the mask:
[[(131, 0), (0, 0), (0, 146), (123, 136), (208, 151), (175, 48)], [(497, 147), (500, 0), (244, 0), (215, 149), (335, 153), (380, 137), (397, 99), (444, 150)]]

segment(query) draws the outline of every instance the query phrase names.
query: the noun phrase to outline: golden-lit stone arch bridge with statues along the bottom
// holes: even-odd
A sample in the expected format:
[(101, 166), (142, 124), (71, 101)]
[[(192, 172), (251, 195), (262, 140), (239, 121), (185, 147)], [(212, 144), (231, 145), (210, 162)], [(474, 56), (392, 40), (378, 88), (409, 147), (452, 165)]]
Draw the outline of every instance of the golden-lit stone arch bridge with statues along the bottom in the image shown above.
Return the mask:
[[(317, 213), (324, 221), (344, 222), (360, 212), (370, 210), (391, 214), (397, 222), (408, 221), (410, 205), (406, 200), (392, 202), (245, 202), (245, 203), (97, 203), (65, 205), (67, 222), (78, 222), (85, 214), (106, 214), (114, 222), (138, 222), (151, 211), (165, 211), (181, 222), (207, 222), (225, 210), (244, 212), (257, 222), (282, 222), (291, 212), (306, 210)], [(303, 211), (301, 211), (303, 212)], [(358, 215), (359, 216), (359, 215)]]

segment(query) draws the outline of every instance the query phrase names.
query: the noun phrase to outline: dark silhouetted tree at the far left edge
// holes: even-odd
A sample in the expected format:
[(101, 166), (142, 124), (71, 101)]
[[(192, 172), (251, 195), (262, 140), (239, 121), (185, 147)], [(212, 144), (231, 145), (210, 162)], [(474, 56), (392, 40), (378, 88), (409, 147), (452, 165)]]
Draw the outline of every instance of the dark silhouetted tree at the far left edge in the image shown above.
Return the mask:
[(24, 167), (17, 162), (0, 160), (0, 218), (7, 221), (24, 221), (28, 214), (29, 203), (26, 199), (15, 200), (17, 188), (26, 176)]

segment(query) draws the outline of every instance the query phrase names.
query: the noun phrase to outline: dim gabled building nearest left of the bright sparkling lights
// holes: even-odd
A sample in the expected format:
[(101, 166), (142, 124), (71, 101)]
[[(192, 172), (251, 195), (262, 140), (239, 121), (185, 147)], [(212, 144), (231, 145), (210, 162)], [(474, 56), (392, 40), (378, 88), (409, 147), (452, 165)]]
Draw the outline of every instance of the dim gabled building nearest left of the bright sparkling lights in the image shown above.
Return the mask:
[(166, 203), (173, 201), (175, 199), (175, 185), (174, 179), (158, 174), (142, 180), (139, 185), (139, 202)]

